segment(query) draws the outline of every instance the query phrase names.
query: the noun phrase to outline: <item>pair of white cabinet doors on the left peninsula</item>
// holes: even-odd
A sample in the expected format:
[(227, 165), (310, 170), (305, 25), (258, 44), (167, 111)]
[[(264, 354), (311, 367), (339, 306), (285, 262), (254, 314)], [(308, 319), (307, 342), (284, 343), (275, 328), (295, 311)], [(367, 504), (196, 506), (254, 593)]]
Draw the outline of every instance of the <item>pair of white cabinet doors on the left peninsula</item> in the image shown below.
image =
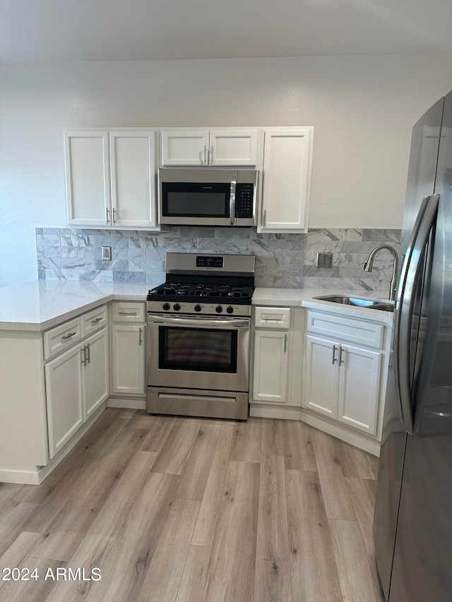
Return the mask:
[(108, 330), (103, 328), (46, 364), (50, 458), (109, 396), (108, 359)]

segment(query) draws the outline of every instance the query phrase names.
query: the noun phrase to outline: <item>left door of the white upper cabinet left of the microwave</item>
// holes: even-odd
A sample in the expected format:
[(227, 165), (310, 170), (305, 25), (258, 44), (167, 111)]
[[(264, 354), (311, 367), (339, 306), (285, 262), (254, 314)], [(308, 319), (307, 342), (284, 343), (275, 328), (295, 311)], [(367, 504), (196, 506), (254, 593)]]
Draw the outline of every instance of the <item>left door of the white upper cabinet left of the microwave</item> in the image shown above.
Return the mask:
[(68, 222), (73, 226), (105, 226), (111, 221), (107, 134), (64, 132)]

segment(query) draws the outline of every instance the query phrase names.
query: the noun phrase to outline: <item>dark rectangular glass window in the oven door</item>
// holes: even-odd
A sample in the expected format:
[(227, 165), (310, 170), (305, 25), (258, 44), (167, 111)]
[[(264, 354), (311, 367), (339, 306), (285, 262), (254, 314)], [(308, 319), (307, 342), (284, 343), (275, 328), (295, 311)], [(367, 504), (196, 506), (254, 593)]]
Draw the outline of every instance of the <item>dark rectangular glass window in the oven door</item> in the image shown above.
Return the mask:
[(159, 327), (159, 368), (237, 373), (237, 330)]

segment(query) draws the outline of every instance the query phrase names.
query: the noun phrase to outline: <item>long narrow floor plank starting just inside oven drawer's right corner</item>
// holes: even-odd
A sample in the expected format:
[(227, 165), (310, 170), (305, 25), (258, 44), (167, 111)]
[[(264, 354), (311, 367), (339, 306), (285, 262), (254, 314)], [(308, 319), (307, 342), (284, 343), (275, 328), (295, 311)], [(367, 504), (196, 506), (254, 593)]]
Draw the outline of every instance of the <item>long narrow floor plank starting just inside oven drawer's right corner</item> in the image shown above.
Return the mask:
[(191, 539), (191, 543), (194, 546), (206, 546), (208, 548), (212, 546), (233, 436), (234, 423), (223, 422), (220, 428), (220, 435), (218, 435), (215, 453), (213, 454), (212, 464), (210, 464), (210, 471), (195, 531)]

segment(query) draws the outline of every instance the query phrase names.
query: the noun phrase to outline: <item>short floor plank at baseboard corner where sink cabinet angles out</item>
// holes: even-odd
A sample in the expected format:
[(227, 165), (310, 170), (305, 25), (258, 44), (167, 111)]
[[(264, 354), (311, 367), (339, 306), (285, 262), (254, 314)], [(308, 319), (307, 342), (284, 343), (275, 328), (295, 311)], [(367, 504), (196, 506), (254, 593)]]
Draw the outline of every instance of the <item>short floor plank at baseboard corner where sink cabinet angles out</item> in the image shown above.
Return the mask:
[(316, 456), (309, 426), (296, 420), (285, 420), (282, 426), (286, 469), (316, 471)]

